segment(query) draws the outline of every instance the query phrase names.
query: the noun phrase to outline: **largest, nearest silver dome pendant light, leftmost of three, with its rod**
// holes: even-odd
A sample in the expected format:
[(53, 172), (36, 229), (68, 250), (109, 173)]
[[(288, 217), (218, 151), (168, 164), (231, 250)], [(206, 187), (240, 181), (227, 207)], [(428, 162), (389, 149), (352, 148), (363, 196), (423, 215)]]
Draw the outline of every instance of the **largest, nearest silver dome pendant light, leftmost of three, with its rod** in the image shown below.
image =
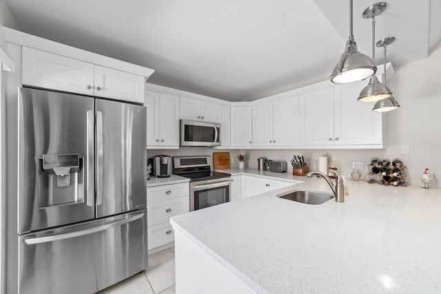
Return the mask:
[(349, 0), (349, 40), (329, 79), (332, 83), (351, 83), (369, 78), (376, 71), (377, 67), (369, 56), (358, 52), (352, 32), (352, 0)]

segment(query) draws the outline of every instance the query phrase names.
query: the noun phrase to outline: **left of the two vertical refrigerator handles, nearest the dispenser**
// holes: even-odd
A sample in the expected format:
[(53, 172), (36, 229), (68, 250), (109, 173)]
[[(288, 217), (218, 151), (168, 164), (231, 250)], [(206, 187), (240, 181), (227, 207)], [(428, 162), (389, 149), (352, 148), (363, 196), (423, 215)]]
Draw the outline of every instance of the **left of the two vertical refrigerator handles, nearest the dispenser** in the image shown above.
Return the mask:
[(88, 173), (88, 178), (86, 179), (86, 204), (89, 207), (94, 206), (94, 194), (95, 194), (95, 187), (94, 187), (94, 111), (88, 110), (87, 111), (87, 122), (86, 122), (86, 132), (88, 136), (88, 143), (86, 147), (86, 171)]

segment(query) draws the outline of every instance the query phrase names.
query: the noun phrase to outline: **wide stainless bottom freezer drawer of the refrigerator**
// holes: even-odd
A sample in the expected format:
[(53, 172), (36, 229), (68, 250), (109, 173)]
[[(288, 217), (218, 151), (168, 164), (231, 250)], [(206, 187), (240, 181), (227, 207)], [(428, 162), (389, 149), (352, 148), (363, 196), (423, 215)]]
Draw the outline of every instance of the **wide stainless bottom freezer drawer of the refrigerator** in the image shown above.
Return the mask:
[(19, 293), (96, 293), (147, 267), (145, 209), (19, 236)]

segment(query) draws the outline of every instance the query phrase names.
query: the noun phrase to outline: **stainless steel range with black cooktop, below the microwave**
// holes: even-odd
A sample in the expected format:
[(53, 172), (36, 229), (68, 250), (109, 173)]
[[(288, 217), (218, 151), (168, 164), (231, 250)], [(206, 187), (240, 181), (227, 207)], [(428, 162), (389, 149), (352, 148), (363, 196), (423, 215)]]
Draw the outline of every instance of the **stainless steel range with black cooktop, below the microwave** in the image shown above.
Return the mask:
[(173, 158), (173, 174), (190, 179), (190, 211), (229, 202), (231, 175), (211, 170), (210, 156)]

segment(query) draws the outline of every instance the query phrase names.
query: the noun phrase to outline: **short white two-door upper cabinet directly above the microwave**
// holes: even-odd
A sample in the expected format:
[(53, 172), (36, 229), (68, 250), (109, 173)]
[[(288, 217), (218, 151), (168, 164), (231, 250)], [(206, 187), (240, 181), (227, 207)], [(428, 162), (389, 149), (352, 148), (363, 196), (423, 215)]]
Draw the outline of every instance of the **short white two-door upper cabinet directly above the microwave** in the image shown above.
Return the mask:
[(185, 120), (200, 120), (206, 123), (220, 123), (222, 114), (220, 105), (207, 103), (181, 96), (180, 116)]

